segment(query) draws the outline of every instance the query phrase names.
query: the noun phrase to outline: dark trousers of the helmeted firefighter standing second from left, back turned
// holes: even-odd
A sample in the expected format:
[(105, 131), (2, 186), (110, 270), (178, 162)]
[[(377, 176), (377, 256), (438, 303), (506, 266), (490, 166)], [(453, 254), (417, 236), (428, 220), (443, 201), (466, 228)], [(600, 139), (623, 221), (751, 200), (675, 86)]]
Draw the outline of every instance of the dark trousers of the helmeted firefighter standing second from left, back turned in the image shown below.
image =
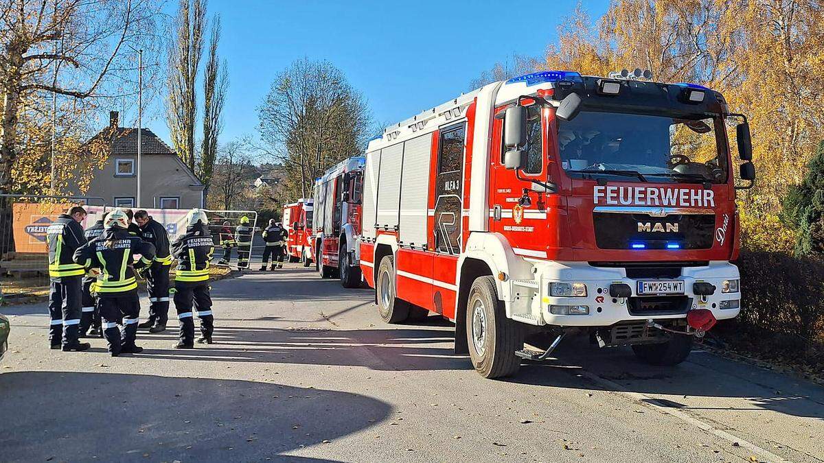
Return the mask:
[[(103, 337), (109, 343), (109, 352), (131, 351), (138, 334), (140, 302), (137, 290), (99, 295)], [(119, 326), (121, 323), (122, 326)]]

